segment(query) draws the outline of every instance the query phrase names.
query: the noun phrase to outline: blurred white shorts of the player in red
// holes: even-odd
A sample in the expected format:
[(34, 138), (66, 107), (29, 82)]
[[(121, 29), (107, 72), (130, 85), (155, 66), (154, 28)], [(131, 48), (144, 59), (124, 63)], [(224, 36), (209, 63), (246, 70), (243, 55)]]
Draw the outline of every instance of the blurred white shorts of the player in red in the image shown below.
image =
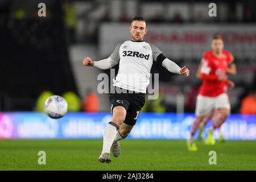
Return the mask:
[(209, 114), (213, 109), (226, 108), (230, 109), (229, 97), (226, 93), (222, 93), (217, 97), (201, 96), (196, 98), (196, 115)]

